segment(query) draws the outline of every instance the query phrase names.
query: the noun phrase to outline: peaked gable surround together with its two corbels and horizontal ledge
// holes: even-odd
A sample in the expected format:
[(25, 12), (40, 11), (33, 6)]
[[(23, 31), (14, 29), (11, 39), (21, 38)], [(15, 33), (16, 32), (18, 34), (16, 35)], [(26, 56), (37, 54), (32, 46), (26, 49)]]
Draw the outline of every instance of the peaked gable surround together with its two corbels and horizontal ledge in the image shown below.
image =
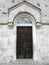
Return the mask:
[[(23, 6), (23, 7), (22, 7)], [(28, 7), (29, 10), (23, 10), (24, 7)], [(25, 8), (26, 8), (25, 7)], [(21, 9), (22, 8), (22, 9)], [(12, 28), (14, 26), (14, 23), (13, 23), (13, 19), (15, 18), (15, 16), (17, 15), (17, 13), (19, 12), (29, 12), (31, 13), (32, 15), (34, 15), (35, 19), (36, 19), (36, 22), (35, 22), (35, 26), (39, 29), (41, 27), (41, 25), (49, 25), (49, 23), (42, 23), (41, 22), (41, 9), (38, 8), (37, 6), (29, 3), (28, 1), (22, 1), (12, 7), (10, 7), (8, 9), (8, 19), (9, 21), (7, 23), (0, 23), (0, 25), (8, 25), (9, 28)], [(15, 13), (14, 13), (15, 12)], [(13, 13), (13, 14), (12, 14)], [(15, 15), (16, 14), (16, 15)], [(11, 17), (12, 16), (12, 17)]]

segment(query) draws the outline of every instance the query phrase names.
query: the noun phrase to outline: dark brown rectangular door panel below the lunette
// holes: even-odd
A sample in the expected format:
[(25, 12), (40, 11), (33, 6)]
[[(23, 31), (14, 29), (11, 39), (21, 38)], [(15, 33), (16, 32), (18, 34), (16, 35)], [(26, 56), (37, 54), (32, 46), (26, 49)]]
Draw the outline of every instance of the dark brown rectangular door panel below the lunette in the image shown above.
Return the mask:
[(33, 44), (32, 44), (32, 27), (18, 26), (17, 27), (17, 52), (18, 59), (33, 58)]

